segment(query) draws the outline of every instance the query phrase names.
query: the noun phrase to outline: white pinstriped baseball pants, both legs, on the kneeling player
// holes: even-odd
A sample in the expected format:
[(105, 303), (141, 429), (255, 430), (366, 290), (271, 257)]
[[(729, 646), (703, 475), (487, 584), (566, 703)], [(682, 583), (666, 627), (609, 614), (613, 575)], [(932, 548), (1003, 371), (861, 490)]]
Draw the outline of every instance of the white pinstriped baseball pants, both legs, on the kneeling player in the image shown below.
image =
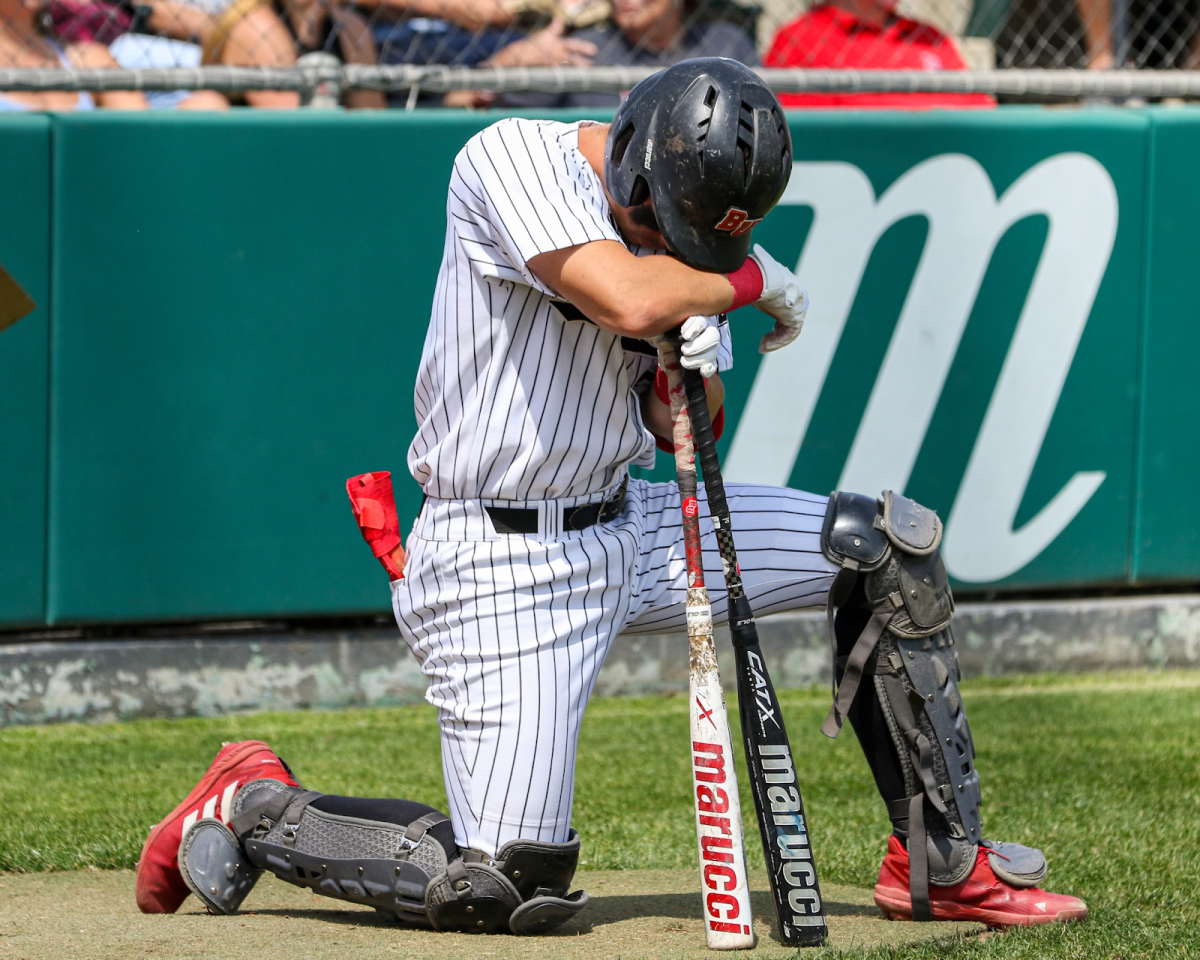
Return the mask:
[[(749, 484), (726, 493), (755, 613), (823, 605), (836, 572), (821, 553), (827, 498)], [(700, 502), (704, 580), (724, 619)], [(605, 654), (622, 631), (684, 629), (686, 568), (674, 484), (631, 480), (620, 517), (565, 533), (562, 510), (576, 500), (488, 504), (538, 508), (539, 534), (497, 534), (479, 500), (430, 499), (392, 606), (438, 708), (455, 841), (491, 856), (517, 838), (566, 840), (580, 722)]]

